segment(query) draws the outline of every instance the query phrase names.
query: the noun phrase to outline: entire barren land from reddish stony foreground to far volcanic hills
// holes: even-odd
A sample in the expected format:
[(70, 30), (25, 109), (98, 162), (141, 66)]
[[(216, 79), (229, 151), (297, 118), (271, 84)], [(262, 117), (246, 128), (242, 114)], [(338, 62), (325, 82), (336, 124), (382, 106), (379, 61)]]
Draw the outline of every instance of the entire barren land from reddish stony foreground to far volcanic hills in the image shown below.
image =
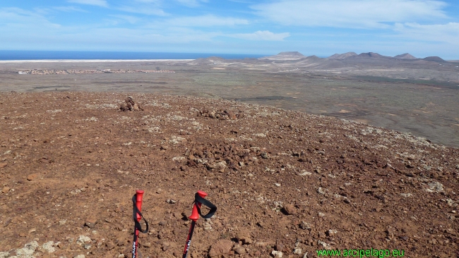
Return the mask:
[(191, 258), (456, 257), (458, 64), (404, 56), (1, 63), (0, 257), (130, 257), (136, 189), (143, 257), (196, 190)]

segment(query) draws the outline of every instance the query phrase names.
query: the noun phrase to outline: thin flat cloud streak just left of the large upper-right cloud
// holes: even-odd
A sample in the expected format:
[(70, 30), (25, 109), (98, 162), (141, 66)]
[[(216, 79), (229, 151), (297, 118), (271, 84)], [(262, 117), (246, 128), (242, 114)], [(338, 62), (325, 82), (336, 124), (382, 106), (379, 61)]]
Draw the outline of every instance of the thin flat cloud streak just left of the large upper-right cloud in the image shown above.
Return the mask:
[(249, 24), (249, 21), (245, 19), (217, 17), (213, 15), (181, 17), (167, 20), (167, 25), (177, 25), (184, 27), (234, 26), (247, 24)]

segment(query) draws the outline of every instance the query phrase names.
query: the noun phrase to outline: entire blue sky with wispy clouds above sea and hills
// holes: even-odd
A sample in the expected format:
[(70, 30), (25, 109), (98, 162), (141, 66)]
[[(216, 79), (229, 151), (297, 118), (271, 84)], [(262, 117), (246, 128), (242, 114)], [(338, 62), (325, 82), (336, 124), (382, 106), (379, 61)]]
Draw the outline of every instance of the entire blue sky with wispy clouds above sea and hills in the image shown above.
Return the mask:
[(4, 0), (0, 49), (459, 59), (459, 1)]

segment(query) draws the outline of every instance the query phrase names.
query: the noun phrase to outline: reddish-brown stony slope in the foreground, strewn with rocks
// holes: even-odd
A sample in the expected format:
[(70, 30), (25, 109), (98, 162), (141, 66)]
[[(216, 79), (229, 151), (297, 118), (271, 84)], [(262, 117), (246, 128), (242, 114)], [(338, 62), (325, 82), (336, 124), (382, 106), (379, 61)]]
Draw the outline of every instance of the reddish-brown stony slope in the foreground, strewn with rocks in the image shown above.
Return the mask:
[(459, 149), (364, 123), (215, 99), (0, 94), (0, 257), (457, 257)]

